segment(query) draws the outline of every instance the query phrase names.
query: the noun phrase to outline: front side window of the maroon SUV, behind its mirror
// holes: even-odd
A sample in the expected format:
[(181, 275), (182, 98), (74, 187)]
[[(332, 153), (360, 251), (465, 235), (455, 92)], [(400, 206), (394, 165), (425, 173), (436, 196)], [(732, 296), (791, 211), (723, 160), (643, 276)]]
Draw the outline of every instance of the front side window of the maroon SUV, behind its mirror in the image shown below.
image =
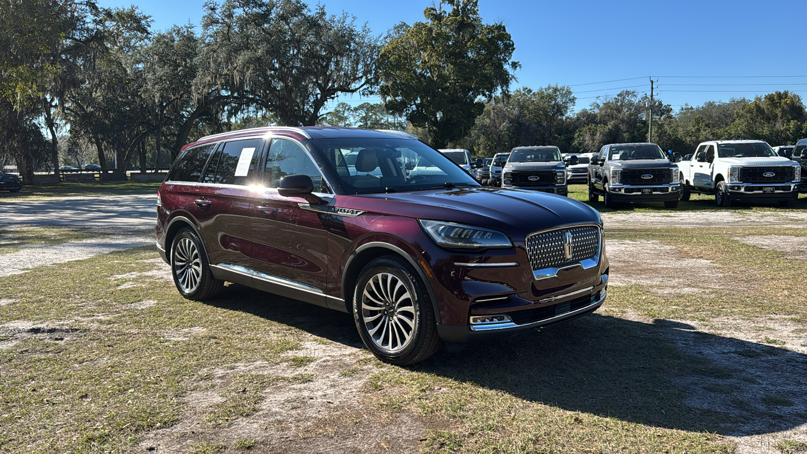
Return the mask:
[(266, 187), (278, 187), (280, 179), (286, 175), (304, 174), (311, 177), (314, 191), (330, 193), (328, 184), (324, 183), (319, 167), (314, 164), (308, 153), (295, 142), (284, 139), (273, 139), (266, 155), (266, 170), (263, 173)]

